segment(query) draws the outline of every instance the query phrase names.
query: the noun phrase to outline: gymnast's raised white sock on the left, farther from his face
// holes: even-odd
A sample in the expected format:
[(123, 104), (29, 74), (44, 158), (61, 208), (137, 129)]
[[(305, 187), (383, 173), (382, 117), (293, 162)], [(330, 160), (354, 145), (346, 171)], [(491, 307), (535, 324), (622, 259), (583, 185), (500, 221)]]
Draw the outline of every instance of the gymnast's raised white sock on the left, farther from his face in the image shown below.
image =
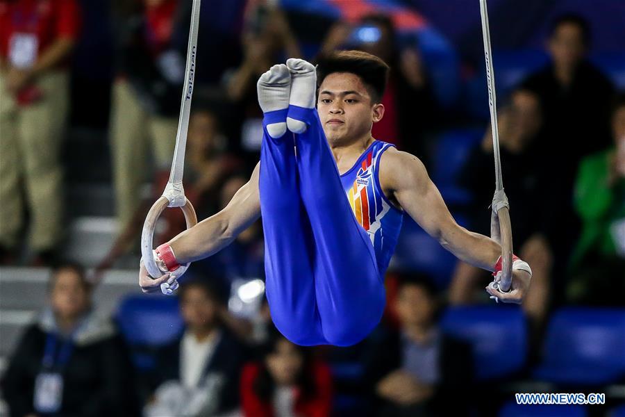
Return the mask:
[[(256, 83), (258, 92), (258, 104), (263, 113), (283, 110), (289, 106), (289, 93), (291, 90), (291, 74), (284, 64), (274, 65), (260, 76)], [(284, 122), (267, 124), (267, 133), (272, 138), (281, 138), (286, 133), (286, 120)]]

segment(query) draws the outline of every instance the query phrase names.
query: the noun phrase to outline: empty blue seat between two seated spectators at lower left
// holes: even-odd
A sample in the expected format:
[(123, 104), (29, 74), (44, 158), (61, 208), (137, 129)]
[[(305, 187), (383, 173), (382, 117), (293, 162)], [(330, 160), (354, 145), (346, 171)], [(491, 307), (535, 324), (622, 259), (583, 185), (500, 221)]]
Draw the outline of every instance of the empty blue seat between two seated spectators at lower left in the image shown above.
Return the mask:
[(163, 345), (183, 331), (176, 297), (131, 295), (120, 304), (116, 318), (130, 345)]

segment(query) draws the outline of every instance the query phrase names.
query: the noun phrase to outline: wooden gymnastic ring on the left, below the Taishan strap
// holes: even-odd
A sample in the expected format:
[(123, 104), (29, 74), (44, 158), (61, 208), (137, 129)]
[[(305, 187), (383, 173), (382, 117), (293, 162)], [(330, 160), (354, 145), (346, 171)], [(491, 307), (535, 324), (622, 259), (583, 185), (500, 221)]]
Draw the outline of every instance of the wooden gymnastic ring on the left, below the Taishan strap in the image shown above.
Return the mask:
[[(164, 195), (161, 196), (153, 206), (150, 208), (150, 211), (145, 218), (145, 222), (143, 223), (143, 231), (141, 232), (141, 255), (143, 257), (143, 263), (145, 268), (147, 269), (149, 275), (154, 278), (158, 278), (163, 275), (163, 271), (161, 271), (156, 265), (156, 261), (154, 260), (153, 253), (153, 239), (154, 239), (154, 229), (156, 228), (156, 222), (160, 215), (163, 214), (165, 208), (169, 205), (169, 199)], [(181, 210), (185, 215), (185, 221), (187, 223), (187, 229), (191, 229), (197, 224), (197, 215), (195, 214), (195, 209), (193, 205), (189, 201), (188, 198), (185, 197), (185, 204), (181, 206)]]

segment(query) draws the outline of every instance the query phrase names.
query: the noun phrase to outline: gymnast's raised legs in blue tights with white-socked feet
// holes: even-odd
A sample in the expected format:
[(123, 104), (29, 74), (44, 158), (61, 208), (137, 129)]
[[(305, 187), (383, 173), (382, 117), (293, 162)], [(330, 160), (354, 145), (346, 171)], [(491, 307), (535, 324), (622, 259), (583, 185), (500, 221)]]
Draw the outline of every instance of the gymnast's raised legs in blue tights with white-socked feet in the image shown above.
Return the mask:
[[(267, 300), (276, 327), (295, 343), (353, 345), (382, 316), (383, 277), (315, 110), (315, 68), (303, 60), (288, 65), (288, 102), (288, 87), (274, 74), (284, 66), (272, 67), (258, 84), (265, 112), (259, 187)], [(295, 134), (283, 125), (287, 108)]]

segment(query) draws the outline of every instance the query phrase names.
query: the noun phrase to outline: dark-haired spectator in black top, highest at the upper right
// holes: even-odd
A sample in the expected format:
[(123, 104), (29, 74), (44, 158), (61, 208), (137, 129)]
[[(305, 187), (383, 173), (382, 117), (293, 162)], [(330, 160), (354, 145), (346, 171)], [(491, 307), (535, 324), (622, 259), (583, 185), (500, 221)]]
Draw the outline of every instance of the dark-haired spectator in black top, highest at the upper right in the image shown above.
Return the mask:
[(545, 147), (565, 156), (559, 166), (567, 168), (571, 178), (579, 159), (608, 146), (610, 138), (614, 90), (606, 76), (586, 59), (590, 38), (590, 27), (583, 17), (559, 17), (547, 40), (551, 63), (524, 81), (543, 104)]

